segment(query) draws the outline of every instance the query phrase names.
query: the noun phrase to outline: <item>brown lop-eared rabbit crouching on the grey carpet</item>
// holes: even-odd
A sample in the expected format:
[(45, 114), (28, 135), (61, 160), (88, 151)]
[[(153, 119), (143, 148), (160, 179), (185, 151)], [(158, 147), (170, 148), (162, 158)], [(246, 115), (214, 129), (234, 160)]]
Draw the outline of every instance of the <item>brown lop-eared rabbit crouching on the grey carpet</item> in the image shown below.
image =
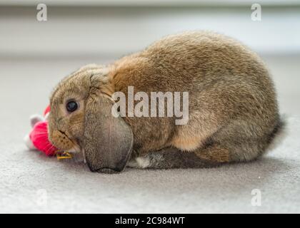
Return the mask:
[[(114, 93), (128, 96), (129, 86), (189, 92), (188, 122), (114, 117)], [(247, 162), (264, 154), (283, 125), (261, 58), (210, 31), (169, 35), (106, 66), (84, 66), (54, 88), (50, 104), (49, 140), (82, 152), (92, 172)]]

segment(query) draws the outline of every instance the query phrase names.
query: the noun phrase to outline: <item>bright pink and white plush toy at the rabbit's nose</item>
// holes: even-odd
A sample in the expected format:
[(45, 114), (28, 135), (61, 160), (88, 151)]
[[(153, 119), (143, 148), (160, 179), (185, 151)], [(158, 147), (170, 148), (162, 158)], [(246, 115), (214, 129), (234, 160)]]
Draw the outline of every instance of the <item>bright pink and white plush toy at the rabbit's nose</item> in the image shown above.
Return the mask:
[(50, 112), (50, 106), (44, 110), (44, 116), (32, 115), (30, 118), (31, 132), (25, 136), (24, 140), (29, 150), (39, 150), (47, 156), (57, 155), (57, 158), (71, 158), (68, 152), (59, 152), (59, 150), (51, 144), (48, 138), (48, 121), (47, 117)]

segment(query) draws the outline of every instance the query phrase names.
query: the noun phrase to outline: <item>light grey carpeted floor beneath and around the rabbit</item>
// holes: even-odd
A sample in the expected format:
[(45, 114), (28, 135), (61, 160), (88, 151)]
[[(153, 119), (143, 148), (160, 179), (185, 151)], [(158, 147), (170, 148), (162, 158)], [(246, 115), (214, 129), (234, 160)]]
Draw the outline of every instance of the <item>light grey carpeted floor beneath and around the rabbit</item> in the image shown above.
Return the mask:
[[(0, 212), (299, 213), (299, 64), (295, 58), (266, 61), (281, 110), (288, 114), (286, 137), (266, 156), (214, 169), (126, 169), (104, 175), (89, 172), (81, 162), (28, 151), (23, 142), (29, 115), (44, 110), (51, 88), (95, 59), (1, 59)], [(251, 204), (257, 196), (253, 190), (261, 192), (261, 206)]]

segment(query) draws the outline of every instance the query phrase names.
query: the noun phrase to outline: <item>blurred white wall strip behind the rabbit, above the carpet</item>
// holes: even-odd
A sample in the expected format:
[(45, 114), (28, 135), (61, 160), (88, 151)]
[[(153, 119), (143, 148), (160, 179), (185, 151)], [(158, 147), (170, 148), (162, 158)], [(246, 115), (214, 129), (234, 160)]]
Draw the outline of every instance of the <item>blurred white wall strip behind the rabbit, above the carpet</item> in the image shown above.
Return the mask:
[[(12, 1), (15, 2), (15, 1)], [(29, 1), (33, 2), (33, 1)], [(66, 1), (69, 2), (69, 1)], [(249, 7), (36, 6), (0, 7), (0, 57), (120, 56), (169, 33), (209, 29), (238, 38), (259, 53), (300, 53), (299, 6), (263, 6), (262, 21)]]

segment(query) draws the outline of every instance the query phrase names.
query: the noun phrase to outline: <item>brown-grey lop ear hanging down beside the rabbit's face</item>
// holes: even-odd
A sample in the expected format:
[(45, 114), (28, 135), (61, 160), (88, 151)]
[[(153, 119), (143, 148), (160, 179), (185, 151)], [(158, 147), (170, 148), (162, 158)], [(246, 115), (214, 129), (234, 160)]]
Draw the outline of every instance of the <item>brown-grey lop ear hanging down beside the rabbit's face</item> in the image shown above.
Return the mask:
[(84, 155), (92, 172), (121, 172), (131, 155), (133, 133), (111, 114), (113, 105), (105, 95), (90, 95), (86, 101)]

